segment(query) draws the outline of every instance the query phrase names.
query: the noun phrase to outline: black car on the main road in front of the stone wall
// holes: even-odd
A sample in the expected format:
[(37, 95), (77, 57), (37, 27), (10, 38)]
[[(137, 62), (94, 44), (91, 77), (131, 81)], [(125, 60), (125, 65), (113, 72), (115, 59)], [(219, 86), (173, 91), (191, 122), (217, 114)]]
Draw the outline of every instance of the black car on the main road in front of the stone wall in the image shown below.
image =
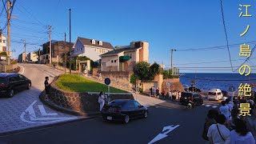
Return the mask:
[(114, 100), (105, 105), (102, 109), (102, 118), (110, 121), (128, 123), (130, 119), (147, 118), (147, 116), (147, 108), (134, 100)]

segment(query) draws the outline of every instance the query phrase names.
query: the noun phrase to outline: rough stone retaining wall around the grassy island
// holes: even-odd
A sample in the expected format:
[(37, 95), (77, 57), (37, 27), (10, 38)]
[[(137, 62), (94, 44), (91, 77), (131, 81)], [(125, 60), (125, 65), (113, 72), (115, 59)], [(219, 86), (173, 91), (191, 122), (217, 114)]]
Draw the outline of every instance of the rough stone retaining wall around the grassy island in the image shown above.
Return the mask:
[[(66, 109), (78, 111), (80, 113), (90, 113), (99, 111), (98, 92), (66, 92), (58, 89), (55, 85), (57, 78), (50, 84), (50, 101)], [(130, 93), (112, 94), (114, 99), (134, 99)]]

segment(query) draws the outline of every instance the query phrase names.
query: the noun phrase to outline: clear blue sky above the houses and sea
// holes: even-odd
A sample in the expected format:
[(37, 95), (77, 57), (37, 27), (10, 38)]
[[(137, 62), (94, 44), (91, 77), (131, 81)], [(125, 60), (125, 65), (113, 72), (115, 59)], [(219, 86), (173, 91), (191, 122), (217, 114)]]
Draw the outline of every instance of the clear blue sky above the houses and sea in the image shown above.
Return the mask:
[[(230, 45), (256, 41), (256, 2), (254, 0), (222, 1)], [(249, 14), (252, 14), (252, 17), (239, 18), (239, 4), (251, 5)], [(2, 8), (2, 3), (0, 7)], [(174, 52), (174, 66), (181, 67), (181, 72), (232, 72), (231, 69), (223, 71), (224, 68), (222, 70), (197, 68), (230, 67), (226, 48), (186, 50), (226, 46), (219, 0), (17, 0), (13, 11), (13, 14), (17, 15), (13, 17), (18, 19), (13, 19), (11, 22), (13, 41), (11, 48), (15, 49), (16, 53), (22, 53), (23, 46), (18, 42), (24, 38), (26, 42), (36, 44), (27, 45), (28, 51), (40, 48), (40, 44), (49, 41), (47, 25), (53, 26), (53, 39), (63, 40), (64, 32), (69, 34), (70, 8), (72, 9), (72, 42), (78, 36), (110, 42), (113, 46), (129, 45), (132, 41), (141, 40), (150, 43), (150, 62), (170, 66), (170, 49), (174, 48), (177, 50)], [(245, 12), (245, 9), (243, 11)], [(3, 13), (0, 17), (0, 26), (5, 24), (6, 16)], [(250, 25), (250, 30), (245, 36), (240, 37), (239, 34), (247, 25)], [(67, 40), (69, 40), (68, 36)], [(256, 42), (251, 43), (251, 49), (255, 44)], [(239, 57), (238, 53), (239, 46), (230, 47), (232, 60), (245, 59)], [(240, 66), (242, 62), (244, 61), (234, 61), (233, 65)], [(255, 68), (255, 54), (251, 56), (248, 65)]]

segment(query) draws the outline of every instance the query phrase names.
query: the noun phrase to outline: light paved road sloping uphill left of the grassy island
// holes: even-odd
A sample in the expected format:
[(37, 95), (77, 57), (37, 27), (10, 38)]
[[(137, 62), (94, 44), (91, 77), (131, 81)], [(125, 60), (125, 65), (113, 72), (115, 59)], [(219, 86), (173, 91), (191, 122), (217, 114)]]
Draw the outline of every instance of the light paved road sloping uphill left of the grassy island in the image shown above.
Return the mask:
[(22, 68), (20, 74), (30, 78), (32, 86), (30, 90), (23, 90), (13, 98), (0, 98), (0, 135), (78, 118), (51, 110), (38, 98), (45, 88), (45, 77), (48, 76), (51, 82), (55, 76), (62, 73), (61, 71), (37, 64), (20, 64), (20, 66)]

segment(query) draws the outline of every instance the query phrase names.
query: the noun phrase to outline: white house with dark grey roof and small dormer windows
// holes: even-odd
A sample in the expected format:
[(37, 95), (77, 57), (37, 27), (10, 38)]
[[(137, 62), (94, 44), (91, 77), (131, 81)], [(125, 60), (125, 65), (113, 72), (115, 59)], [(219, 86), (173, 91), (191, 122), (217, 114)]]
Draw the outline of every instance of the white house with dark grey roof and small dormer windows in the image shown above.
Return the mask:
[(94, 62), (98, 62), (101, 58), (101, 54), (105, 54), (111, 50), (114, 50), (114, 47), (110, 42), (78, 37), (74, 43), (74, 53), (71, 57), (76, 58), (78, 56), (86, 56)]

